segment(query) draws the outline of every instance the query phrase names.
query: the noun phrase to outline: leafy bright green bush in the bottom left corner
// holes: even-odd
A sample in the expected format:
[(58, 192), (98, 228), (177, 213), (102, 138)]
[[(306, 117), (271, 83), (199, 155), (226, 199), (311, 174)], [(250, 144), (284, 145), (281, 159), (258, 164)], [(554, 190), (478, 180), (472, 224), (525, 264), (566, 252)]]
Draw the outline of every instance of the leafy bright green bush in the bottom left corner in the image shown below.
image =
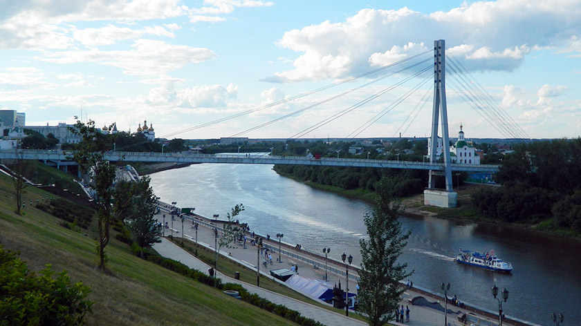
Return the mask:
[(55, 277), (50, 265), (39, 274), (0, 246), (0, 325), (82, 325), (89, 287), (71, 285), (66, 271)]

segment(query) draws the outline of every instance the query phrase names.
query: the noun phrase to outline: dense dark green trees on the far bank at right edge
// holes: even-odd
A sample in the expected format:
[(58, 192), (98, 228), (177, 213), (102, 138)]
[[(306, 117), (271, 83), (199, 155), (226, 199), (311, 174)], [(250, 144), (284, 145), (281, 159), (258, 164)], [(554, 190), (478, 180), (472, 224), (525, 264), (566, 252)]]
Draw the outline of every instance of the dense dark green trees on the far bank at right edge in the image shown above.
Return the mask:
[(519, 144), (496, 179), (501, 189), (472, 194), (486, 217), (529, 224), (553, 218), (559, 227), (581, 231), (580, 138)]

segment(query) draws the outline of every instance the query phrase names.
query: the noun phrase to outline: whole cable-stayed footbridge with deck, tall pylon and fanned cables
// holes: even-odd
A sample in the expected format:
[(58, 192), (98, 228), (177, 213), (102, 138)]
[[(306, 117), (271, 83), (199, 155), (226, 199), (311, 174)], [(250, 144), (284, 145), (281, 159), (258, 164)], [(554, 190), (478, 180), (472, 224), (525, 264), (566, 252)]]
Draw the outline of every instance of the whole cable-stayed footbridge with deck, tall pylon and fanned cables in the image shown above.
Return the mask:
[[(466, 171), (472, 173), (495, 173), (498, 171), (499, 167), (497, 165), (482, 165), (482, 164), (453, 164), (452, 157), (450, 155), (450, 143), (449, 132), (448, 132), (448, 111), (446, 106), (446, 55), (445, 55), (445, 41), (436, 40), (434, 41), (433, 55), (430, 55), (432, 50), (425, 50), (417, 55), (412, 55), (397, 61), (393, 64), (387, 66), (382, 66), (375, 70), (371, 70), (367, 73), (362, 73), (354, 77), (350, 77), (341, 81), (337, 81), (328, 86), (322, 88), (317, 88), (315, 90), (302, 93), (299, 95), (286, 97), (285, 99), (277, 102), (272, 102), (258, 108), (252, 108), (247, 111), (240, 113), (235, 113), (228, 117), (221, 117), (211, 122), (205, 122), (197, 126), (187, 128), (183, 131), (177, 131), (169, 135), (163, 135), (162, 137), (172, 137), (178, 135), (179, 133), (185, 133), (189, 131), (194, 131), (198, 128), (203, 128), (206, 126), (211, 126), (214, 124), (220, 124), (226, 122), (230, 119), (236, 119), (243, 115), (250, 115), (251, 113), (257, 113), (265, 108), (273, 108), (280, 104), (285, 104), (295, 99), (301, 99), (308, 95), (313, 95), (315, 93), (320, 93), (324, 90), (329, 90), (340, 85), (349, 85), (361, 78), (365, 80), (360, 86), (350, 88), (348, 90), (342, 90), (329, 97), (317, 97), (314, 103), (308, 106), (299, 108), (296, 111), (286, 113), (268, 122), (262, 122), (257, 126), (253, 126), (244, 131), (240, 131), (231, 135), (230, 137), (240, 137), (247, 133), (251, 133), (264, 126), (269, 126), (270, 124), (275, 124), (283, 119), (289, 117), (296, 117), (297, 115), (304, 113), (305, 111), (311, 110), (328, 104), (335, 99), (344, 97), (345, 95), (356, 95), (358, 92), (364, 91), (364, 89), (371, 88), (375, 86), (374, 93), (371, 95), (361, 96), (359, 93), (354, 96), (358, 99), (358, 102), (352, 104), (347, 108), (333, 113), (331, 116), (324, 117), (319, 122), (315, 122), (308, 128), (305, 128), (295, 135), (288, 137), (288, 140), (299, 140), (305, 135), (312, 133), (330, 122), (335, 121), (344, 115), (356, 112), (356, 110), (362, 106), (365, 106), (369, 102), (372, 102), (383, 95), (390, 93), (393, 94), (393, 90), (400, 87), (399, 90), (404, 88), (403, 91), (399, 91), (397, 99), (391, 102), (389, 105), (382, 108), (382, 110), (375, 113), (371, 118), (369, 118), (364, 124), (355, 128), (346, 138), (354, 139), (358, 137), (361, 133), (365, 132), (369, 126), (378, 122), (382, 117), (390, 113), (391, 111), (405, 102), (410, 96), (414, 95), (416, 91), (420, 90), (424, 85), (432, 79), (434, 81), (433, 90), (433, 102), (432, 102), (432, 126), (431, 137), (430, 137), (430, 148), (437, 148), (438, 139), (440, 138), (439, 131), (441, 130), (441, 144), (443, 146), (441, 149), (441, 157), (436, 153), (438, 151), (432, 150), (430, 152), (429, 162), (408, 162), (408, 161), (393, 161), (393, 160), (361, 160), (361, 159), (345, 159), (345, 158), (335, 158), (329, 157), (331, 153), (335, 152), (336, 148), (329, 148), (326, 153), (320, 153), (321, 157), (303, 157), (303, 156), (276, 156), (276, 155), (208, 155), (208, 154), (194, 154), (194, 153), (136, 153), (123, 151), (127, 148), (118, 148), (120, 151), (110, 151), (105, 154), (105, 159), (117, 162), (177, 162), (177, 163), (230, 163), (230, 164), (300, 164), (300, 165), (310, 165), (310, 166), (353, 166), (353, 167), (368, 167), (368, 168), (389, 168), (389, 169), (420, 169), (430, 171), (430, 178), (427, 184), (427, 190), (425, 191), (425, 204), (432, 204), (434, 206), (441, 207), (455, 207), (457, 204), (456, 196), (457, 194), (452, 189), (452, 171)], [(468, 104), (474, 111), (476, 111), (483, 120), (490, 123), (499, 133), (507, 138), (519, 138), (526, 139), (529, 138), (528, 135), (520, 128), (515, 121), (506, 114), (497, 104), (495, 100), (487, 93), (486, 89), (483, 88), (468, 72), (468, 70), (461, 64), (461, 61), (454, 59), (453, 57), (448, 58), (450, 60), (450, 69), (452, 73), (450, 74), (451, 84), (454, 86), (454, 91), (459, 98)], [(372, 76), (378, 77), (372, 77)], [(378, 86), (379, 81), (386, 80), (387, 77), (402, 77), (399, 81), (394, 82), (389, 86)], [(372, 79), (374, 78), (374, 79)], [(409, 86), (406, 84), (408, 82), (416, 82), (415, 85)], [(379, 90), (377, 90), (379, 89)], [(407, 131), (407, 128), (414, 122), (414, 119), (418, 117), (421, 113), (423, 107), (430, 99), (430, 91), (428, 90), (425, 95), (419, 101), (416, 101), (416, 106), (413, 111), (405, 118), (402, 125), (394, 135), (398, 132), (401, 134)], [(133, 146), (133, 145), (130, 145)], [(0, 151), (0, 158), (22, 158), (25, 160), (44, 160), (53, 162), (64, 162), (68, 160), (70, 162), (70, 153), (63, 151), (33, 151), (33, 150), (19, 150), (19, 151)], [(443, 163), (440, 163), (442, 162)], [(436, 176), (442, 175), (445, 179), (445, 189), (436, 189)]]

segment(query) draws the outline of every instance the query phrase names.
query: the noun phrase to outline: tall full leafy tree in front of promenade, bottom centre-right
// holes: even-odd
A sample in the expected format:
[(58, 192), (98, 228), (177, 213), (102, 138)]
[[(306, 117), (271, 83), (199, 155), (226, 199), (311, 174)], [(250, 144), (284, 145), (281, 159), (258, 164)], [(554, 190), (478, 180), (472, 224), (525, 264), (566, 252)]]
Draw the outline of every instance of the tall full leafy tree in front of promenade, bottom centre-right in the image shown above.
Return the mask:
[(411, 231), (403, 233), (398, 217), (403, 212), (399, 201), (391, 202), (380, 194), (371, 215), (365, 215), (369, 240), (360, 240), (361, 270), (360, 311), (367, 314), (369, 325), (384, 325), (394, 317), (400, 296), (405, 291), (400, 281), (412, 275), (407, 264), (397, 262)]

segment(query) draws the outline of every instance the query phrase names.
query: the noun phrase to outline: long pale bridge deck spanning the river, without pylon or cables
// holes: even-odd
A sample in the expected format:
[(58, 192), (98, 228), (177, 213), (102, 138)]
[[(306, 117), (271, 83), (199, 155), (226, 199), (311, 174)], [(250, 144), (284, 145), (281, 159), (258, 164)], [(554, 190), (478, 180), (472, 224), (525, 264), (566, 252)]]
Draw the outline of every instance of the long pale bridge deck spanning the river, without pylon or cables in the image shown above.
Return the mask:
[[(74, 151), (34, 150), (21, 149), (0, 151), (1, 159), (40, 160), (52, 162), (70, 161)], [(196, 154), (196, 153), (143, 153), (110, 151), (105, 153), (105, 160), (111, 162), (175, 162), (178, 164), (196, 163), (223, 163), (223, 164), (290, 164), (311, 166), (351, 166), (366, 168), (387, 169), (416, 169), (427, 171), (444, 171), (445, 164), (430, 162), (411, 162), (394, 160), (363, 160), (335, 157), (306, 156), (271, 156), (252, 154)], [(451, 164), (452, 171), (464, 171), (470, 173), (495, 173), (497, 165), (486, 164)]]

